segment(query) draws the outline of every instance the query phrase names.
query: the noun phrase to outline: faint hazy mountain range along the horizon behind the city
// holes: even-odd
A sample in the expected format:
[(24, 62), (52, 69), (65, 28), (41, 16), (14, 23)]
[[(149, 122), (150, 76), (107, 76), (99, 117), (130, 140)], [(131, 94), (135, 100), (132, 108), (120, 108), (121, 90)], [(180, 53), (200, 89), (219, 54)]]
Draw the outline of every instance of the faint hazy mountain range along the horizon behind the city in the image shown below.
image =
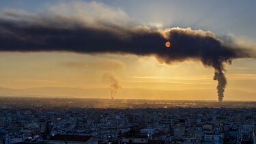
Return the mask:
[[(57, 98), (110, 98), (108, 88), (82, 89), (72, 87), (33, 87), (10, 89), (0, 87), (0, 96), (33, 96)], [(160, 99), (160, 100), (217, 100), (216, 89), (121, 89), (117, 99)], [(256, 93), (227, 89), (224, 100), (256, 100)]]

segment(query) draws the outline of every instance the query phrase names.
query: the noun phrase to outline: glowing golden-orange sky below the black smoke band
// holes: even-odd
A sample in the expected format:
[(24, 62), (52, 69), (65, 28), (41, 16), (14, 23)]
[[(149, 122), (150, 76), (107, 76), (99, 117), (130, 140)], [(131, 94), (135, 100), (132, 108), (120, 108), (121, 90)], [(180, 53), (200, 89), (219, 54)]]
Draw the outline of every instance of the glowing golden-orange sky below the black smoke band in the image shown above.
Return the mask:
[[(102, 75), (108, 72), (113, 74), (122, 86), (115, 98), (180, 100), (201, 100), (202, 98), (216, 100), (217, 98), (217, 83), (212, 79), (214, 70), (210, 67), (205, 68), (199, 61), (167, 65), (159, 63), (154, 57), (134, 55), (0, 53), (0, 68), (0, 86), (12, 89), (31, 87), (108, 89), (111, 82), (103, 81), (102, 78)], [(241, 96), (246, 93), (256, 93), (255, 72), (256, 63), (253, 59), (235, 60), (232, 65), (227, 66), (228, 85), (225, 100), (256, 100), (251, 95), (248, 98)], [(132, 89), (134, 89), (133, 92)], [(125, 91), (128, 92), (124, 93)], [(206, 94), (208, 96), (204, 98)], [(55, 91), (53, 96), (63, 96), (63, 93)], [(67, 92), (66, 96), (80, 97), (81, 95)], [(109, 91), (91, 93), (91, 96), (109, 98)], [(85, 98), (87, 97), (91, 98), (85, 93)]]

